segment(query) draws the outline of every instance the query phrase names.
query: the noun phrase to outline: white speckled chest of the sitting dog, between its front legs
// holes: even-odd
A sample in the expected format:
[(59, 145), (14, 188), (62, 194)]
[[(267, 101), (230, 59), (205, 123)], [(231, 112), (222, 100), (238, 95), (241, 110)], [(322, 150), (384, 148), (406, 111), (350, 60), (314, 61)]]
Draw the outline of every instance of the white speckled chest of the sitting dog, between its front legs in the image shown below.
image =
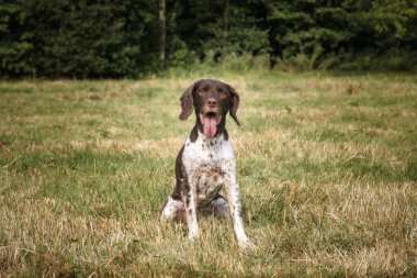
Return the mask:
[(182, 162), (201, 205), (213, 200), (235, 171), (236, 163), (232, 144), (223, 135), (214, 140), (199, 138), (185, 142)]

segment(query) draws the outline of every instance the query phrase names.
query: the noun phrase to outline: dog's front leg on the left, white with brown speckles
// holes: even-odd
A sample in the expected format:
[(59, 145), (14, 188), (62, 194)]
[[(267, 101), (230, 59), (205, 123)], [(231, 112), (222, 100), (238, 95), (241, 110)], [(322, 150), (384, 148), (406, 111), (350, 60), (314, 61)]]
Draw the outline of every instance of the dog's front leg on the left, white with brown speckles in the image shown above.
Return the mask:
[(185, 204), (185, 219), (189, 227), (189, 240), (194, 241), (199, 236), (199, 223), (196, 220), (196, 189), (190, 180), (184, 180), (183, 202)]

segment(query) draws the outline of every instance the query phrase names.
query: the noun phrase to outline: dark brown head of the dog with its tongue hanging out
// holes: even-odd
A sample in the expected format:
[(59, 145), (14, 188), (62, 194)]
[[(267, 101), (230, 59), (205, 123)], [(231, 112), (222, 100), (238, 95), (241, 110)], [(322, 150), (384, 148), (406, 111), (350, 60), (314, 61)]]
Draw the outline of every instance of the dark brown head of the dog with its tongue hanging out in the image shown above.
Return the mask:
[(182, 93), (180, 100), (180, 119), (187, 120), (194, 109), (198, 127), (208, 138), (216, 136), (217, 131), (225, 126), (227, 112), (240, 125), (236, 116), (239, 94), (227, 84), (212, 79), (199, 80)]

